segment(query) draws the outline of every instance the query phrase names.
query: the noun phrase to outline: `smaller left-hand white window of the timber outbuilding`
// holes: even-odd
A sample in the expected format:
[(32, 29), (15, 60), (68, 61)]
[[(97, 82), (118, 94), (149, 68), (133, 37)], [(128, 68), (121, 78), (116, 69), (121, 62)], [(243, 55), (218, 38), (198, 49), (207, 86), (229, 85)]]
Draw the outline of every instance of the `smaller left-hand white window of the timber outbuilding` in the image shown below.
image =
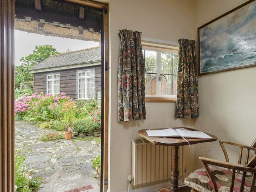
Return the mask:
[(46, 94), (59, 94), (59, 74), (46, 75)]

